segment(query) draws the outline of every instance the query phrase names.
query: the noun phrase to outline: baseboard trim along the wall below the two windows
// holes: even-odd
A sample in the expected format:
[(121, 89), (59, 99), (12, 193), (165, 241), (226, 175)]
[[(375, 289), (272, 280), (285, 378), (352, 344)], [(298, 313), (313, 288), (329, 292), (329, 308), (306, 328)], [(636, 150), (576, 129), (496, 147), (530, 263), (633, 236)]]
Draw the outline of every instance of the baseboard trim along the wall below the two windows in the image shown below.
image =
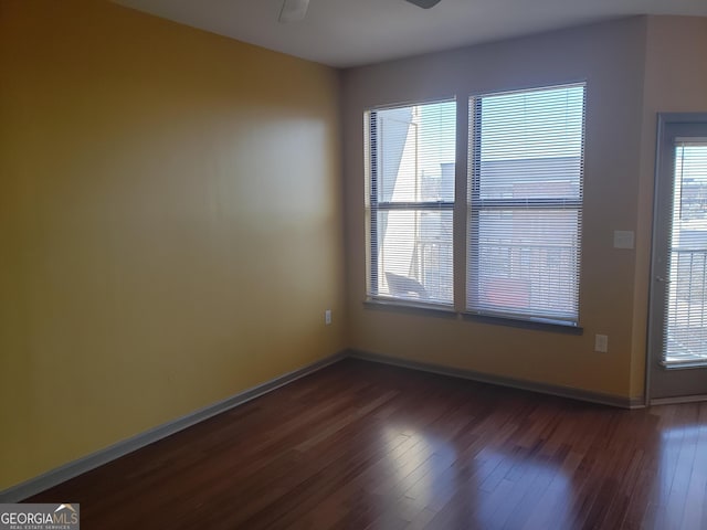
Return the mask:
[(400, 368), (411, 370), (420, 370), (423, 372), (437, 373), (440, 375), (449, 375), (452, 378), (468, 379), (479, 383), (496, 384), (499, 386), (508, 386), (511, 389), (527, 390), (541, 394), (551, 394), (560, 398), (569, 398), (572, 400), (588, 401), (590, 403), (599, 403), (602, 405), (616, 406), (621, 409), (643, 409), (645, 403), (643, 398), (622, 398), (619, 395), (603, 394), (600, 392), (591, 392), (588, 390), (572, 389), (570, 386), (561, 386), (556, 384), (536, 383), (532, 381), (524, 381), (519, 379), (504, 378), (492, 375), (488, 373), (476, 372), (473, 370), (463, 370), (458, 368), (444, 367), (420, 361), (401, 359), (398, 357), (386, 356), (381, 353), (372, 353), (361, 350), (349, 350), (348, 357), (360, 359), (363, 361), (378, 362), (382, 364), (392, 364)]

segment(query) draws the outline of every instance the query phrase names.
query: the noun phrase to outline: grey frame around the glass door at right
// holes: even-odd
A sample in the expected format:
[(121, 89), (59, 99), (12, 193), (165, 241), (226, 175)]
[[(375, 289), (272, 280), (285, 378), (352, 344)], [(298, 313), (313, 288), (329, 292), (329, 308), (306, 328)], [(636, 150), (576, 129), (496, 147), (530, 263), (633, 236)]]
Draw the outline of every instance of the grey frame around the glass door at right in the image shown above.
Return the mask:
[(663, 236), (664, 234), (659, 233), (658, 223), (661, 221), (659, 216), (659, 190), (661, 190), (661, 174), (665, 171), (665, 165), (669, 162), (673, 155), (665, 151), (665, 138), (666, 130), (669, 126), (673, 125), (706, 125), (707, 126), (707, 113), (657, 113), (657, 127), (656, 127), (656, 139), (655, 139), (655, 168), (654, 168), (654, 182), (653, 182), (653, 220), (652, 220), (652, 233), (651, 233), (651, 267), (650, 267), (650, 277), (648, 277), (648, 307), (647, 307), (647, 326), (646, 326), (646, 352), (645, 352), (645, 405), (651, 406), (651, 404), (659, 404), (667, 402), (688, 402), (688, 401), (701, 401), (701, 396), (693, 396), (690, 399), (689, 395), (678, 396), (678, 398), (651, 398), (651, 388), (652, 388), (652, 372), (653, 364), (655, 362), (653, 352), (656, 351), (656, 348), (662, 348), (662, 330), (656, 330), (656, 326), (654, 325), (655, 318), (655, 289), (654, 285), (656, 282), (656, 275), (661, 273), (661, 271), (656, 271), (656, 259), (658, 253), (657, 237)]

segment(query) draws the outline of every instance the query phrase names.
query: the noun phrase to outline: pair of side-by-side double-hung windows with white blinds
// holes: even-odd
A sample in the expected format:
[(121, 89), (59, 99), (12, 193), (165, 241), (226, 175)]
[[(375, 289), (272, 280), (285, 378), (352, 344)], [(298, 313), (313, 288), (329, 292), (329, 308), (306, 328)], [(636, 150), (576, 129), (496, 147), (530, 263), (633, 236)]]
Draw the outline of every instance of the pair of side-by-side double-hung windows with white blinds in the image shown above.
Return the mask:
[[(367, 112), (369, 299), (578, 326), (584, 92), (471, 97), (460, 182), (454, 100)], [(453, 233), (455, 211), (465, 233)], [(466, 274), (454, 274), (454, 242)]]

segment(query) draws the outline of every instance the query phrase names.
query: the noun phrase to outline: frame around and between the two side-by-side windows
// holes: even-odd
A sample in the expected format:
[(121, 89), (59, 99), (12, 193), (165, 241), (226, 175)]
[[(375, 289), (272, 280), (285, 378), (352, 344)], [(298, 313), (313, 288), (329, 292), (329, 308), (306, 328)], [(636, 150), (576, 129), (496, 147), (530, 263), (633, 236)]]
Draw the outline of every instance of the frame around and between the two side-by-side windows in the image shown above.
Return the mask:
[[(474, 231), (478, 235), (479, 222), (478, 216), (484, 209), (478, 209), (479, 181), (471, 178), (471, 171), (475, 169), (473, 165), (481, 166), (481, 135), (475, 127), (479, 127), (472, 119), (474, 109), (472, 104), (481, 105), (482, 98), (486, 96), (509, 94), (509, 93), (531, 93), (539, 91), (549, 91), (552, 88), (581, 86), (583, 88), (583, 113), (581, 124), (581, 155), (580, 155), (580, 180), (579, 195), (577, 199), (536, 199), (517, 200), (514, 204), (511, 200), (496, 199), (484, 200), (486, 209), (488, 208), (524, 208), (528, 204), (534, 210), (558, 210), (558, 206), (578, 211), (577, 224), (577, 287), (576, 287), (576, 318), (573, 320), (547, 318), (540, 315), (520, 315), (509, 312), (476, 311), (469, 309), (472, 300), (471, 285), (474, 280), (473, 275), (478, 275), (478, 265), (472, 267), (472, 261), (478, 258), (477, 252), (472, 252), (474, 241)], [(456, 146), (455, 146), (455, 173), (454, 173), (454, 200), (453, 201), (435, 201), (435, 202), (380, 202), (378, 200), (378, 179), (376, 149), (371, 149), (371, 132), (376, 132), (378, 123), (376, 121), (376, 113), (387, 109), (395, 109), (401, 107), (422, 106), (434, 103), (455, 102), (455, 127), (456, 127)], [(585, 80), (546, 84), (524, 87), (510, 91), (493, 91), (478, 94), (456, 94), (446, 97), (424, 99), (418, 102), (407, 102), (398, 105), (380, 105), (369, 107), (363, 112), (363, 151), (365, 151), (365, 201), (366, 201), (366, 298), (365, 305), (371, 308), (382, 308), (383, 310), (402, 310), (403, 312), (421, 312), (430, 316), (454, 315), (457, 319), (467, 321), (477, 321), (490, 325), (503, 325), (518, 328), (539, 329), (546, 331), (555, 331), (570, 335), (582, 335), (581, 327), (581, 287), (582, 287), (582, 246), (583, 246), (583, 191), (584, 191), (584, 165), (585, 165), (585, 144), (587, 144), (587, 102), (588, 102), (588, 83)], [(468, 121), (467, 121), (468, 119)], [(373, 129), (371, 131), (371, 128)], [(481, 132), (481, 128), (478, 130)], [(478, 174), (478, 172), (476, 172)], [(476, 197), (475, 197), (476, 195)], [(473, 199), (475, 199), (473, 201)], [(513, 208), (508, 208), (513, 209)], [(452, 215), (452, 300), (450, 304), (440, 304), (435, 301), (415, 300), (401, 298), (381, 294), (379, 290), (380, 278), (378, 276), (380, 241), (378, 233), (377, 212), (380, 211), (400, 211), (400, 210), (420, 210), (420, 211), (447, 211)], [(474, 220), (474, 222), (471, 222)], [(473, 274), (472, 274), (473, 271)], [(376, 282), (377, 279), (377, 282)]]

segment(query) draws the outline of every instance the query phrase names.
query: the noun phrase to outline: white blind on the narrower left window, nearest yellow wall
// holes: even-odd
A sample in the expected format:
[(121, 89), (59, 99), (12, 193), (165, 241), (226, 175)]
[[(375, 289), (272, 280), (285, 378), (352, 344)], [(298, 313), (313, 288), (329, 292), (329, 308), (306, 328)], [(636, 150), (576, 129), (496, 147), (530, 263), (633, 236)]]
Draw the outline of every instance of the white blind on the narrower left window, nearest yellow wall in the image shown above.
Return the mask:
[(367, 113), (368, 296), (453, 304), (454, 100)]

